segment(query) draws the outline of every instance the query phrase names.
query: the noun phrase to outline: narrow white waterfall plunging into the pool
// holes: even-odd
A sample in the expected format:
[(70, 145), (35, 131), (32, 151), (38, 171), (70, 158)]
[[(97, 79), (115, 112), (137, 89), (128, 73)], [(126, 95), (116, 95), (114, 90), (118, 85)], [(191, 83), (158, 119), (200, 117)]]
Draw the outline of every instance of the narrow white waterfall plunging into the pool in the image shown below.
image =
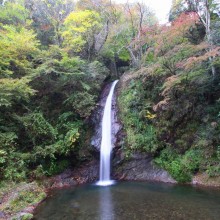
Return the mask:
[(114, 81), (110, 92), (108, 94), (104, 114), (102, 118), (102, 141), (100, 148), (100, 174), (97, 185), (108, 186), (113, 184), (113, 180), (110, 179), (110, 158), (112, 151), (112, 97), (115, 89), (115, 85), (118, 80)]

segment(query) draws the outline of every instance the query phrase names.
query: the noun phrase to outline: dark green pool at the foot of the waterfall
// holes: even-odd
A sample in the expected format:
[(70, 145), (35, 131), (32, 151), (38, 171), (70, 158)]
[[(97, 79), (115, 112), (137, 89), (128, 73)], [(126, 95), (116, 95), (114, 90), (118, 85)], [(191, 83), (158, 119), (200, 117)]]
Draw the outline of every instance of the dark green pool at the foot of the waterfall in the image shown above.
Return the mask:
[(54, 191), (35, 214), (51, 220), (220, 220), (220, 191), (191, 186), (122, 182)]

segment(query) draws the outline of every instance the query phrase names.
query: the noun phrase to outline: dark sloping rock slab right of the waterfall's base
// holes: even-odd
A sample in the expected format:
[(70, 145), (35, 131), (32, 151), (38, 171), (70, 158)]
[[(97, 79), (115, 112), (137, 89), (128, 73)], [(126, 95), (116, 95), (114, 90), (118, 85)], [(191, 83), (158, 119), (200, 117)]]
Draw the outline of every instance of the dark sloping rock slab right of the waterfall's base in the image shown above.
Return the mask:
[(143, 153), (133, 154), (129, 160), (118, 162), (118, 166), (114, 170), (114, 178), (118, 180), (176, 183), (168, 172), (153, 164), (152, 157)]

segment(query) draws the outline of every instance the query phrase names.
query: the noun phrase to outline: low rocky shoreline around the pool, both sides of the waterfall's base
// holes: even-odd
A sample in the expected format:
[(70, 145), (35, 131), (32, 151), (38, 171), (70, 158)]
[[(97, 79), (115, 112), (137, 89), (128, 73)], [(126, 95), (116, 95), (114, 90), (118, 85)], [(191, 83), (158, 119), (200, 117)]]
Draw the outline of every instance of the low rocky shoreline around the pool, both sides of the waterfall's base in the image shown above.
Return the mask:
[[(176, 184), (177, 182), (164, 170), (153, 165), (151, 158), (147, 155), (136, 154), (128, 161), (120, 162), (117, 167), (113, 168), (113, 178), (119, 181), (152, 181)], [(46, 199), (51, 190), (62, 189), (77, 186), (86, 183), (92, 183), (98, 180), (99, 161), (94, 160), (82, 164), (74, 170), (66, 170), (60, 175), (41, 180), (39, 183), (23, 183), (15, 187), (11, 191), (5, 193), (0, 203), (0, 220), (27, 220), (33, 218), (36, 207)], [(191, 183), (198, 187), (211, 187), (220, 189), (220, 179), (209, 178), (205, 174), (196, 175)], [(18, 190), (19, 188), (19, 190)], [(32, 191), (38, 189), (44, 192), (44, 196), (36, 202), (31, 203), (27, 207), (19, 210), (17, 213), (4, 212), (3, 207), (10, 205), (10, 201), (14, 201), (25, 190)], [(42, 194), (43, 195), (43, 194)]]

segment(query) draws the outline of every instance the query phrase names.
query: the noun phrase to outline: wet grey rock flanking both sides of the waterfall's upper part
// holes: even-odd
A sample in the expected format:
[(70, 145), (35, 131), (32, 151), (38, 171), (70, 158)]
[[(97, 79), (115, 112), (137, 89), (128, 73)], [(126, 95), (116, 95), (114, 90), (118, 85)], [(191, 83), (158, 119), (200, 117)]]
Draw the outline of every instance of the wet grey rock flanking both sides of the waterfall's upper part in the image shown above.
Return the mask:
[[(104, 108), (106, 99), (108, 97), (109, 91), (111, 89), (111, 83), (106, 85), (102, 90), (100, 95), (100, 101), (97, 104), (97, 108), (95, 109), (94, 113), (92, 114), (91, 121), (94, 125), (94, 135), (91, 139), (91, 145), (95, 147), (97, 150), (100, 150), (101, 140), (102, 140), (102, 117), (104, 114)], [(117, 85), (116, 85), (117, 87)], [(116, 145), (117, 142), (117, 133), (121, 129), (121, 125), (117, 118), (117, 105), (116, 105), (116, 93), (113, 94), (112, 100), (112, 144), (113, 147)]]

